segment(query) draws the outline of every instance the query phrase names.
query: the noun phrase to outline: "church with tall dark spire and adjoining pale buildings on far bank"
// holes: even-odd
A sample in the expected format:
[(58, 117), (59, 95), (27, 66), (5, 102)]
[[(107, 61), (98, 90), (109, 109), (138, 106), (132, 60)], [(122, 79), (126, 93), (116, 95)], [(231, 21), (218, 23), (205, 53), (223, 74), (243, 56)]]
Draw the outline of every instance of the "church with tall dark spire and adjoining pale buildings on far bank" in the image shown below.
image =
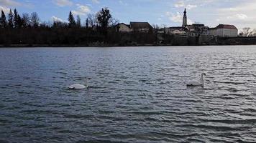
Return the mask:
[(205, 26), (204, 24), (188, 25), (188, 17), (186, 9), (183, 12), (182, 26), (173, 26), (165, 28), (166, 34), (184, 35), (184, 36), (221, 36), (234, 37), (237, 36), (238, 29), (234, 25), (219, 24), (214, 28)]

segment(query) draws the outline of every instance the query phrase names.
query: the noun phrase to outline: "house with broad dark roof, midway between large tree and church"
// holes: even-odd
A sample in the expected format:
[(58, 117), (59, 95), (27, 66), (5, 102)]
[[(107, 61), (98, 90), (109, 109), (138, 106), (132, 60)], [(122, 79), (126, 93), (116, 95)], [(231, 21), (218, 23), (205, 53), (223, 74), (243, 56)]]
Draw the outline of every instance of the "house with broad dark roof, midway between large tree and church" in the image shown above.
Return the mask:
[(130, 22), (133, 32), (148, 33), (152, 31), (152, 26), (148, 22)]

